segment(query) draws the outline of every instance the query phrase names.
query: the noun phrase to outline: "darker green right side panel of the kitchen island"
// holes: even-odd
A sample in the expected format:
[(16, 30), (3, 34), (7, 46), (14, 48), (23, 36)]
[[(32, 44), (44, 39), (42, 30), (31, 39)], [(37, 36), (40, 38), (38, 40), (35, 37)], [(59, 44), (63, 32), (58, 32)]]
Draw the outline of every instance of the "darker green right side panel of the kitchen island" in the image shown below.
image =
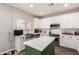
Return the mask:
[(42, 55), (54, 55), (55, 54), (55, 45), (50, 43), (42, 52)]

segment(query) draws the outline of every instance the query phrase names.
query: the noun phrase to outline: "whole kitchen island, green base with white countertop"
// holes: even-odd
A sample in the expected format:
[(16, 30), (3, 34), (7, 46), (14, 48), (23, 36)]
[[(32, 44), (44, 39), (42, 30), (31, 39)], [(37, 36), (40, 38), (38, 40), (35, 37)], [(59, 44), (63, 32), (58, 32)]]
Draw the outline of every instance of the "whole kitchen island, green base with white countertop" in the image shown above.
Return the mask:
[(26, 41), (25, 54), (26, 55), (53, 55), (54, 54), (54, 37), (41, 36)]

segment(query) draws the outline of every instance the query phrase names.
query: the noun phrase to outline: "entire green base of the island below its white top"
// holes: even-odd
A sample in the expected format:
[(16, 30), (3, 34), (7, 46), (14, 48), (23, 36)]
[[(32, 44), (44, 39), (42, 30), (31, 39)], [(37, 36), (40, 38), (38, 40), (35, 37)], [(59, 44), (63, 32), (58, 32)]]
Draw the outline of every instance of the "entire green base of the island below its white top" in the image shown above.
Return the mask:
[(38, 51), (38, 50), (26, 45), (25, 54), (26, 55), (54, 55), (55, 54), (55, 45), (52, 42), (43, 51)]

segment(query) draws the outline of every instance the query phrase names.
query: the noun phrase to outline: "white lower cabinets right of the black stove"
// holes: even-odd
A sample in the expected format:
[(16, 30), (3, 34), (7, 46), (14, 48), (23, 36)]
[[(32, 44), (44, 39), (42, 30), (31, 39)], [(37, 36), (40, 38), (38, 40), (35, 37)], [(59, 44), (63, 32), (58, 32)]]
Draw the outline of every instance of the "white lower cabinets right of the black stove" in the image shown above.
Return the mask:
[(79, 40), (75, 36), (71, 35), (62, 35), (60, 38), (60, 46), (78, 49)]

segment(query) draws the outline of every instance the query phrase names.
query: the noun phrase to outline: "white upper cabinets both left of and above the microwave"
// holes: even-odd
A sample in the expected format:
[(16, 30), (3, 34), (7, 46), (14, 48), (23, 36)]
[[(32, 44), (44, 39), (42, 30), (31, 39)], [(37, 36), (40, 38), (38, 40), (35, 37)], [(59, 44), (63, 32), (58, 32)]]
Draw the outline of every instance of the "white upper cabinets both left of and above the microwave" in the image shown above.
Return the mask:
[(34, 28), (50, 28), (50, 24), (60, 24), (61, 16), (34, 19)]

